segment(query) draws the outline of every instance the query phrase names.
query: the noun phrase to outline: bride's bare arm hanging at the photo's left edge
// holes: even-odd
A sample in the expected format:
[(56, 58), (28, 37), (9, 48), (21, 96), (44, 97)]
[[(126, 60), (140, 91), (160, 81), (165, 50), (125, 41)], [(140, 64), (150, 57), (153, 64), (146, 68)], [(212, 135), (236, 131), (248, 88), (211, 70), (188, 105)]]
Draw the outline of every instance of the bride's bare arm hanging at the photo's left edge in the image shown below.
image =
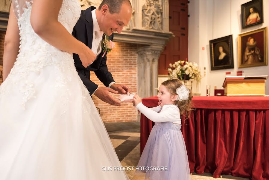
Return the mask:
[(3, 55), (3, 81), (7, 78), (11, 68), (16, 61), (19, 51), (19, 27), (17, 19), (13, 12), (13, 7), (10, 7), (10, 14), (7, 23), (7, 32), (4, 41), (4, 55)]

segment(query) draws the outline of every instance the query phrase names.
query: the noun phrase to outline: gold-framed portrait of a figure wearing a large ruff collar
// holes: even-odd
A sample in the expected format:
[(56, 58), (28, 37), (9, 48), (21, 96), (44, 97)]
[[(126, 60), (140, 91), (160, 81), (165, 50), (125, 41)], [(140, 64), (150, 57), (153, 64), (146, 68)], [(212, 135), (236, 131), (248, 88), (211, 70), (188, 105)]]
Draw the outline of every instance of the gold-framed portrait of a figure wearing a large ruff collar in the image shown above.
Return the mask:
[(267, 27), (238, 35), (238, 67), (267, 65)]

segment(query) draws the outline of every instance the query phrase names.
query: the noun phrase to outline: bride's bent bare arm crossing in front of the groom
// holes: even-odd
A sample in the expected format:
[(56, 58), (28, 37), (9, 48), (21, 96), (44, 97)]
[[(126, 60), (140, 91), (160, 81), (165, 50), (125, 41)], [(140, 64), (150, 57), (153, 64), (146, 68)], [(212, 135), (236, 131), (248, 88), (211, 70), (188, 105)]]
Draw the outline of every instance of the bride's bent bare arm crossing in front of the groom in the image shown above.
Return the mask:
[(32, 4), (31, 25), (44, 41), (62, 51), (78, 54), (83, 66), (87, 67), (96, 55), (58, 22), (62, 2), (63, 0), (35, 0)]

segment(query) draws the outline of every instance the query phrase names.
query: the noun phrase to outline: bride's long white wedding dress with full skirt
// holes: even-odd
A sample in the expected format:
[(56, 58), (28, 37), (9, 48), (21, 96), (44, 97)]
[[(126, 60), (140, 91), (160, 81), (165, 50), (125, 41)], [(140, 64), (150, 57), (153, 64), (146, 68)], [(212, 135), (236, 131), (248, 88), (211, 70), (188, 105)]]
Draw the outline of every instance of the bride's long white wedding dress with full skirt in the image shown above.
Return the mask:
[[(72, 54), (34, 33), (31, 3), (18, 18), (17, 61), (0, 86), (0, 179), (128, 179), (102, 170), (121, 164)], [(80, 12), (77, 0), (63, 0), (58, 20), (71, 33)]]

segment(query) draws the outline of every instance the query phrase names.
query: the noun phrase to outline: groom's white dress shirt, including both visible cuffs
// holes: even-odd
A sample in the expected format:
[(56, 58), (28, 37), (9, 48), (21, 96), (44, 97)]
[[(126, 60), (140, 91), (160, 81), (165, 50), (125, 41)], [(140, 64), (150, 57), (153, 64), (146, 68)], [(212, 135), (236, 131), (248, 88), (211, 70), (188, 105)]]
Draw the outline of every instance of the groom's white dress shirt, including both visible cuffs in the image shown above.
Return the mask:
[[(92, 22), (93, 22), (92, 52), (95, 53), (96, 58), (97, 58), (97, 56), (102, 52), (101, 42), (102, 42), (102, 38), (103, 38), (104, 32), (101, 31), (101, 29), (99, 27), (99, 24), (97, 22), (96, 9), (92, 10)], [(111, 82), (108, 87), (111, 87), (111, 85), (112, 84), (115, 84), (115, 83), (116, 82)], [(95, 93), (95, 91), (94, 91), (94, 93)]]

